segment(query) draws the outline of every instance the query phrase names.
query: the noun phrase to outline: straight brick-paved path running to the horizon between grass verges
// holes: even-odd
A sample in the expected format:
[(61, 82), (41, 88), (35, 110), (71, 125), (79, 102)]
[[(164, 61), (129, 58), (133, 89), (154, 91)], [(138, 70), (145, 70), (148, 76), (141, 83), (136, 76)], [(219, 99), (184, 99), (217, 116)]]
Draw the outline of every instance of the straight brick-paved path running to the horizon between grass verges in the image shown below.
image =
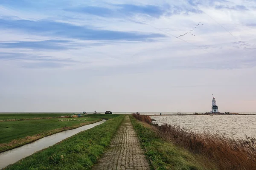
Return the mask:
[(128, 115), (93, 170), (150, 170)]

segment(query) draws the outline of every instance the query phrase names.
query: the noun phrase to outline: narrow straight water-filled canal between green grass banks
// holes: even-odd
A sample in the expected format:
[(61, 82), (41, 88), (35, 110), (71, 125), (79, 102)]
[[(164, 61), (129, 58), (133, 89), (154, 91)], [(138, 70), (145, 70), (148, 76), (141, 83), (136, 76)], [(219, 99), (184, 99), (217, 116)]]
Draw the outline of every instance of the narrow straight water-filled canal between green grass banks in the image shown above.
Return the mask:
[(23, 145), (21, 147), (17, 147), (12, 150), (7, 150), (6, 152), (2, 152), (2, 153), (0, 153), (0, 169), (8, 166), (9, 164), (13, 164), (13, 163), (19, 161), (20, 159), (23, 159), (29, 155), (32, 155), (33, 153), (35, 153), (39, 150), (42, 150), (42, 149), (52, 146), (58, 142), (61, 142), (62, 140), (75, 135), (76, 133), (79, 133), (84, 130), (88, 130), (88, 129), (95, 127), (97, 125), (100, 125), (104, 122), (106, 122), (106, 120), (102, 120), (100, 122), (96, 122), (96, 123), (93, 123), (90, 125), (84, 125), (84, 126), (76, 128), (76, 129), (66, 130), (66, 131), (63, 131), (60, 133), (55, 133), (53, 135), (46, 136), (42, 139), (38, 139), (35, 142)]

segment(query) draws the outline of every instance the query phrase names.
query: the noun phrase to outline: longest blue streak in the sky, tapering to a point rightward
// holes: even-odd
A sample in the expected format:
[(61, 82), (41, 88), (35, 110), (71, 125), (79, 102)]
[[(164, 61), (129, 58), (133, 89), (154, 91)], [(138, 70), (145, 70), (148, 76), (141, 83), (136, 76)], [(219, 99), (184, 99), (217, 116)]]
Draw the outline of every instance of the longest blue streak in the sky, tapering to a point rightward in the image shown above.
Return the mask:
[(69, 23), (60, 23), (49, 20), (3, 20), (0, 19), (0, 28), (15, 29), (29, 33), (38, 33), (45, 36), (61, 36), (80, 40), (126, 40), (148, 41), (154, 38), (165, 37), (163, 34), (143, 34), (137, 31), (111, 31), (75, 26)]

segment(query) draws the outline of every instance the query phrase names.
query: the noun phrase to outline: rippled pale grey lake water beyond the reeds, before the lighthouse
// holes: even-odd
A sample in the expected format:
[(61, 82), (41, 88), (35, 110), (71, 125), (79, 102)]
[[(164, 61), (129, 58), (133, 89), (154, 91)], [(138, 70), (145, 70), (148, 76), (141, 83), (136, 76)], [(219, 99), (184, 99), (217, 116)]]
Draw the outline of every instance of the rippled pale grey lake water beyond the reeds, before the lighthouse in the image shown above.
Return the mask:
[(180, 125), (195, 132), (209, 130), (235, 138), (256, 137), (256, 116), (252, 115), (187, 115), (150, 116), (159, 125)]

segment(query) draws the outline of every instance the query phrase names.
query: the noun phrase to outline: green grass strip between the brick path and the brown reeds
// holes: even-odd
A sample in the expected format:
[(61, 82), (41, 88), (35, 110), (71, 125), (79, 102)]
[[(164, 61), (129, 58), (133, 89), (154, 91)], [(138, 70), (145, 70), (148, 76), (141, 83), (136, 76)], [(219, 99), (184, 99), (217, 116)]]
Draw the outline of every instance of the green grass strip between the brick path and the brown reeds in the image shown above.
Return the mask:
[(156, 170), (217, 170), (209, 160), (177, 147), (157, 136), (151, 125), (131, 116), (134, 129), (140, 137), (146, 156)]

